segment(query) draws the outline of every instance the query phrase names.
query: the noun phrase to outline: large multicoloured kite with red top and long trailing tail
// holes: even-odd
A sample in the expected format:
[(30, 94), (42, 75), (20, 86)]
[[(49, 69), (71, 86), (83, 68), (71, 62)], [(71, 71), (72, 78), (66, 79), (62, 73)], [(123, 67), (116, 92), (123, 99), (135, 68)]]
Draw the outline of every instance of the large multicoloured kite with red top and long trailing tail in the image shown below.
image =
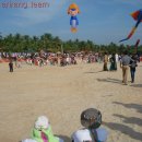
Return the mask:
[(132, 35), (135, 33), (139, 24), (142, 22), (142, 10), (139, 10), (139, 11), (135, 11), (131, 14), (131, 16), (137, 21), (137, 24), (134, 25), (134, 27), (131, 29), (130, 34), (128, 35), (127, 38), (120, 40), (120, 42), (123, 42), (123, 40), (128, 40), (132, 37)]

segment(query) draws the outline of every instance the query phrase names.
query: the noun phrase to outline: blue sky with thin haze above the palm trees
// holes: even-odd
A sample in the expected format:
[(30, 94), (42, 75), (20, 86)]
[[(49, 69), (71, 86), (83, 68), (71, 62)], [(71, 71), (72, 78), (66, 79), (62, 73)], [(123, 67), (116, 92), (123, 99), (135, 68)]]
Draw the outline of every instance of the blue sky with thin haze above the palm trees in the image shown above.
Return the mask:
[[(14, 8), (15, 2), (21, 8)], [(38, 2), (48, 4), (44, 8), (31, 7)], [(76, 3), (81, 10), (75, 34), (70, 31), (70, 15), (67, 14), (71, 3)], [(90, 39), (98, 45), (111, 42), (119, 45), (119, 40), (127, 37), (135, 24), (130, 13), (140, 9), (142, 0), (0, 0), (0, 33), (3, 36), (16, 33), (40, 36), (50, 33), (62, 40), (78, 38)], [(123, 44), (134, 45), (138, 38), (142, 40), (142, 24)]]

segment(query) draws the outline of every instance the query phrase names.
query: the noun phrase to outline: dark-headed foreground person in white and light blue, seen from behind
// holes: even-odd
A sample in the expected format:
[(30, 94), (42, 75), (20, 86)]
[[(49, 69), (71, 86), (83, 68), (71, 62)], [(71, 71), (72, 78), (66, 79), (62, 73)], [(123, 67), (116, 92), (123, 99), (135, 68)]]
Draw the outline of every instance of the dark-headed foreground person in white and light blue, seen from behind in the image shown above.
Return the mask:
[(100, 127), (102, 114), (95, 108), (88, 108), (81, 114), (83, 129), (72, 134), (72, 142), (106, 142), (108, 132)]

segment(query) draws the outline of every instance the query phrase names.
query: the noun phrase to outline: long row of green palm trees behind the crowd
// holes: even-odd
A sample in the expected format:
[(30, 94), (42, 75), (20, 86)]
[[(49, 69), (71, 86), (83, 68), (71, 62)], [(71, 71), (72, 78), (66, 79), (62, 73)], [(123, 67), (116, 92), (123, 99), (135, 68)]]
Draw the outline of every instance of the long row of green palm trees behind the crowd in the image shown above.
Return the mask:
[[(0, 33), (0, 51), (7, 52), (35, 52), (39, 50), (58, 52), (63, 49), (64, 52), (74, 51), (94, 51), (94, 52), (118, 52), (129, 50), (130, 54), (135, 52), (134, 45), (117, 45), (110, 43), (109, 45), (97, 45), (92, 40), (61, 40), (58, 36), (52, 36), (49, 33), (45, 33), (42, 36), (29, 36), (21, 34), (9, 34), (2, 36)], [(138, 47), (138, 51), (142, 54), (142, 46)]]

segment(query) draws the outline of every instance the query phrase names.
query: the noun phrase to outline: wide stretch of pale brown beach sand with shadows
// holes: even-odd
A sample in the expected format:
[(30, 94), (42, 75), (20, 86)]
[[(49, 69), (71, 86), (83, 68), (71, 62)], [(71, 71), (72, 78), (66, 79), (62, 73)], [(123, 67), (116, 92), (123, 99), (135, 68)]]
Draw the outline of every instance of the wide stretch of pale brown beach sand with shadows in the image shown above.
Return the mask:
[[(0, 63), (0, 142), (29, 138), (35, 119), (49, 118), (55, 134), (70, 142), (82, 128), (82, 110), (103, 114), (107, 142), (142, 142), (142, 63), (135, 83), (121, 84), (121, 69), (102, 72), (103, 64), (31, 67), (8, 70)], [(130, 74), (129, 74), (130, 81)]]

